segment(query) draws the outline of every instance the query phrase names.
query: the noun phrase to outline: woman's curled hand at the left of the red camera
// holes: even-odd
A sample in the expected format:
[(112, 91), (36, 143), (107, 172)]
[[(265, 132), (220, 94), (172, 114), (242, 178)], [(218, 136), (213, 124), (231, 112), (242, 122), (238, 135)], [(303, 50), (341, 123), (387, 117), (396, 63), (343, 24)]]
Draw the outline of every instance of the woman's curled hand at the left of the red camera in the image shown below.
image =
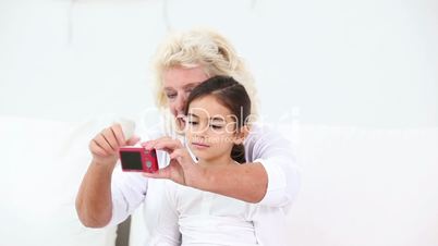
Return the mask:
[(89, 151), (93, 155), (93, 162), (97, 164), (115, 165), (119, 159), (119, 149), (122, 146), (135, 145), (139, 140), (133, 136), (125, 139), (120, 124), (113, 124), (102, 130), (89, 142)]

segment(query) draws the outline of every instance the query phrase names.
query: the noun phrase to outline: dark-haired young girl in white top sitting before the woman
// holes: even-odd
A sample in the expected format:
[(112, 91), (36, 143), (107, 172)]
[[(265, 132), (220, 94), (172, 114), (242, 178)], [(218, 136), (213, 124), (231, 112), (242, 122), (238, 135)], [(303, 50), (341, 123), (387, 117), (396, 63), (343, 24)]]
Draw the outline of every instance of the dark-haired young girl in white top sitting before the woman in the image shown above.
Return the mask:
[[(250, 131), (251, 100), (241, 84), (226, 76), (207, 79), (190, 94), (185, 114), (186, 147), (172, 151), (171, 159), (192, 156), (194, 164), (210, 171), (245, 162), (243, 142)], [(281, 208), (166, 182), (159, 222), (147, 245), (282, 245), (278, 242), (284, 237), (284, 221), (259, 218), (258, 212), (275, 213)]]

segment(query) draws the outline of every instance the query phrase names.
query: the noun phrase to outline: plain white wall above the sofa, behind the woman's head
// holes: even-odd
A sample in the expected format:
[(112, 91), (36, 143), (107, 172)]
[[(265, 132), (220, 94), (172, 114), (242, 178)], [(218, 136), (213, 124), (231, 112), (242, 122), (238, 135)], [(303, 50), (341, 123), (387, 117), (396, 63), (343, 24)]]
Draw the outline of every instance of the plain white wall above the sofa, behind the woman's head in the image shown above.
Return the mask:
[[(74, 4), (73, 4), (74, 3)], [(80, 121), (153, 107), (167, 29), (210, 26), (254, 72), (267, 121), (438, 125), (438, 3), (0, 0), (0, 114)]]

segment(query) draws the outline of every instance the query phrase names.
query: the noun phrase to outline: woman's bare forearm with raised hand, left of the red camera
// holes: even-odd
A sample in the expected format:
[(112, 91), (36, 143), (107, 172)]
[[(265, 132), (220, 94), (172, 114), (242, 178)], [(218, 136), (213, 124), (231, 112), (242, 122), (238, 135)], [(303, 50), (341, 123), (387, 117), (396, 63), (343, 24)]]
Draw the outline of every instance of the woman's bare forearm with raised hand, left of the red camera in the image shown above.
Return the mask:
[[(138, 140), (136, 137), (125, 140), (119, 124), (104, 130), (90, 140), (93, 160), (81, 183), (75, 202), (77, 216), (85, 226), (102, 227), (114, 220), (114, 207), (126, 207), (119, 202), (126, 200), (120, 195), (120, 190), (111, 190), (111, 177), (119, 158), (119, 147), (133, 145)], [(112, 195), (115, 195), (115, 199)]]

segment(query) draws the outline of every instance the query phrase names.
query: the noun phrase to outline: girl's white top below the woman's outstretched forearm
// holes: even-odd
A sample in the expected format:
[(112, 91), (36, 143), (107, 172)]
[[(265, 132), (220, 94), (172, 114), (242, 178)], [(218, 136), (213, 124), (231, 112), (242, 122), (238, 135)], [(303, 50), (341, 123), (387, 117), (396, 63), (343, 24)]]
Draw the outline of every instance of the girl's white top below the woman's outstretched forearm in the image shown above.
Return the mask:
[(171, 181), (163, 195), (148, 246), (260, 245), (254, 225), (257, 205)]

